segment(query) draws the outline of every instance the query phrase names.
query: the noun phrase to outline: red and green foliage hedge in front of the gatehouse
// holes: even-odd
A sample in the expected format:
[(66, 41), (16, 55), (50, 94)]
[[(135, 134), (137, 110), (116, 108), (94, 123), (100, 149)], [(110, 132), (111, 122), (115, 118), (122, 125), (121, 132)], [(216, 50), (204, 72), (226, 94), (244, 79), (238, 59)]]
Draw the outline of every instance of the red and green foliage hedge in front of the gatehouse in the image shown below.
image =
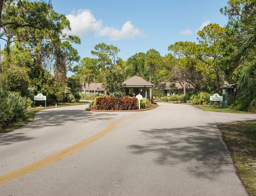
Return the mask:
[(132, 97), (114, 98), (99, 97), (96, 99), (97, 110), (134, 110), (137, 109), (137, 99)]

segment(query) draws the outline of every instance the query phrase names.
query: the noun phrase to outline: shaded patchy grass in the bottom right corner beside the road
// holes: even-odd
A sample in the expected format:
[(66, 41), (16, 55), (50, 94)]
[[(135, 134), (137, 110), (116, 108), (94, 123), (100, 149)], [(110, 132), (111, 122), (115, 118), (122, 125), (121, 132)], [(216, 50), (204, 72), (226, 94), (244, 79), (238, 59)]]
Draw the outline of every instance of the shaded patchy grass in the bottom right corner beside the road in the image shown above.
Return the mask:
[(250, 196), (256, 195), (256, 121), (219, 125), (238, 176)]

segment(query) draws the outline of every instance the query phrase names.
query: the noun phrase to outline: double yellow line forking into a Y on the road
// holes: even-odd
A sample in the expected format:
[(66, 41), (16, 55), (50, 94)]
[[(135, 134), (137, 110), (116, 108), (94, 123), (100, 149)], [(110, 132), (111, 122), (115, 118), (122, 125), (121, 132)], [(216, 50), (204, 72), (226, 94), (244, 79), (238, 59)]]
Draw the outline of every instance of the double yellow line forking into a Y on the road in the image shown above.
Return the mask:
[(83, 147), (85, 147), (86, 145), (96, 141), (97, 139), (103, 137), (104, 135), (106, 135), (107, 133), (109, 133), (110, 131), (112, 131), (118, 124), (120, 124), (121, 122), (124, 122), (125, 120), (128, 120), (130, 118), (133, 118), (134, 116), (138, 116), (139, 114), (142, 114), (146, 111), (143, 111), (143, 112), (139, 112), (138, 114), (134, 114), (128, 118), (125, 118), (121, 121), (118, 121), (117, 123), (115, 123), (113, 125), (113, 122), (110, 118), (107, 118), (106, 116), (102, 116), (102, 115), (99, 115), (99, 114), (95, 114), (93, 112), (90, 112), (92, 114), (95, 114), (97, 116), (101, 116), (103, 118), (106, 118), (109, 120), (110, 124), (108, 125), (108, 127), (106, 129), (104, 129), (103, 131), (101, 131), (100, 133), (97, 133), (96, 135), (80, 142), (80, 143), (77, 143), (75, 145), (72, 145), (71, 147), (67, 148), (67, 149), (64, 149), (63, 151), (60, 151), (59, 153), (56, 153), (54, 155), (51, 155), (50, 157), (46, 157), (45, 159), (42, 159), (40, 161), (37, 161), (35, 163), (32, 163), (26, 167), (22, 167), (16, 171), (13, 171), (13, 172), (10, 172), (8, 174), (5, 174), (3, 176), (0, 176), (0, 185), (1, 184), (4, 184), (6, 182), (9, 182), (11, 180), (14, 180), (20, 176), (23, 176), (25, 174), (28, 174), (32, 171), (35, 171), (37, 169), (40, 169), (41, 167), (44, 167), (46, 165), (49, 165), (50, 163), (53, 163), (55, 161), (58, 161), (59, 159), (62, 159), (76, 151), (78, 151), (79, 149), (82, 149)]

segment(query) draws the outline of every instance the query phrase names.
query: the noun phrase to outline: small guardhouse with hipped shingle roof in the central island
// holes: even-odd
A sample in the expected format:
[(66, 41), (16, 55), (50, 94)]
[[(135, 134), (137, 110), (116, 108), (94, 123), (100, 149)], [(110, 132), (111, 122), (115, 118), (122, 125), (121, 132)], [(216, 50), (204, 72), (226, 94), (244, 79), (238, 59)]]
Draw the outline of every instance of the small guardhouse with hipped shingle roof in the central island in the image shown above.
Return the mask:
[(123, 84), (126, 84), (126, 96), (135, 97), (140, 93), (143, 99), (150, 98), (150, 88), (155, 86), (139, 76), (133, 76), (132, 78), (124, 81)]

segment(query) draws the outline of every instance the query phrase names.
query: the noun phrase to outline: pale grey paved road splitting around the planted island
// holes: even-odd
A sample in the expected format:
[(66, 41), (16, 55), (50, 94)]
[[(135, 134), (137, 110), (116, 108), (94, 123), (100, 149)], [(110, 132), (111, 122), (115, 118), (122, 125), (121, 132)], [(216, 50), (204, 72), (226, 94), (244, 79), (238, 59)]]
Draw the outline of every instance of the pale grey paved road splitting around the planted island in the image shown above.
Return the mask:
[(0, 135), (1, 196), (247, 196), (216, 126), (256, 115), (84, 108), (42, 110)]

